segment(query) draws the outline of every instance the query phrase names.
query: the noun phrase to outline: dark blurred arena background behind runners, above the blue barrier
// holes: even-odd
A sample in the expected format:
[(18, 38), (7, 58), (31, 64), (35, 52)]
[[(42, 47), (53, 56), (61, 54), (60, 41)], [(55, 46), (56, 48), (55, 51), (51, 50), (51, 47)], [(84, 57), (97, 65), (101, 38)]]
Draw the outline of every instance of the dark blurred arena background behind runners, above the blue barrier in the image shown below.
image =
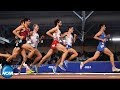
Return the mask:
[[(115, 61), (120, 60), (120, 11), (0, 11), (0, 37), (10, 41), (6, 43), (0, 40), (0, 53), (12, 52), (15, 44), (12, 31), (25, 17), (31, 19), (31, 29), (36, 23), (40, 26), (39, 35), (45, 35), (38, 46), (43, 55), (47, 53), (52, 42), (52, 38), (45, 33), (54, 27), (54, 20), (59, 18), (63, 23), (62, 33), (67, 26), (72, 25), (78, 36), (73, 48), (79, 55), (74, 61), (83, 61), (94, 55), (98, 41), (93, 36), (99, 31), (98, 26), (101, 23), (106, 25), (106, 34), (111, 36), (107, 47), (114, 53)], [(97, 61), (109, 61), (109, 57), (101, 54)]]

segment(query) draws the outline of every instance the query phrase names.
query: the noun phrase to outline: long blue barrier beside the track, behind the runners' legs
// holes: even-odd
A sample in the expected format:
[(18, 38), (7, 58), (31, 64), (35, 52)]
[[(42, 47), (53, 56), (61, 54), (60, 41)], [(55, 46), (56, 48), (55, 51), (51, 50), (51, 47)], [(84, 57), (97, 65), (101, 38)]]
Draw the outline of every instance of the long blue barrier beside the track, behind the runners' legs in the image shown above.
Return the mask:
[[(116, 61), (115, 65), (117, 68), (120, 68), (120, 62)], [(48, 68), (51, 65), (43, 65), (38, 68), (38, 73), (49, 73), (52, 72), (52, 69)], [(63, 65), (65, 67), (65, 65)], [(66, 71), (57, 68), (57, 72), (60, 73), (111, 73), (112, 66), (109, 61), (93, 61), (84, 65), (83, 69), (80, 70), (80, 62), (69, 62), (68, 67), (65, 67)], [(14, 72), (18, 72), (14, 68)], [(26, 69), (22, 68), (21, 73), (25, 73)]]

